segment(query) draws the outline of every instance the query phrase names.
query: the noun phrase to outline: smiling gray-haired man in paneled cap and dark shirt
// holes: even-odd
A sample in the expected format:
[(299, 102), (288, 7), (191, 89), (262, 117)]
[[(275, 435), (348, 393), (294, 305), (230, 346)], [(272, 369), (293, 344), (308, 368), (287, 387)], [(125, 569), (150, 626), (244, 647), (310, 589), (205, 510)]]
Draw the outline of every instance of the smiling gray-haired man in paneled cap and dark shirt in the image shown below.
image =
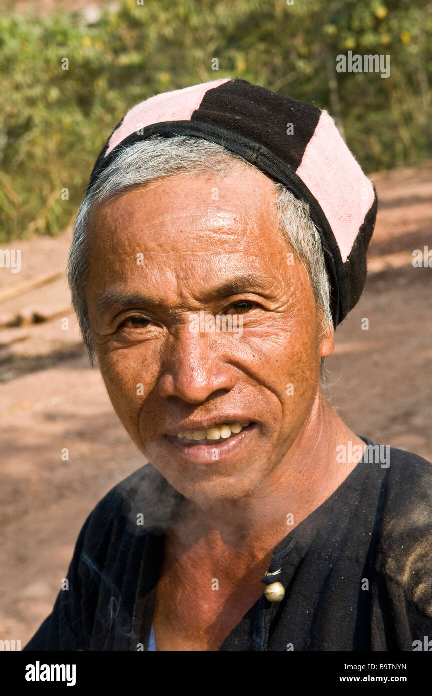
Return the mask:
[(151, 97), (114, 129), (69, 280), (151, 464), (90, 514), (26, 650), (407, 651), (432, 634), (431, 464), (356, 435), (323, 389), (375, 217), (326, 111), (244, 80)]

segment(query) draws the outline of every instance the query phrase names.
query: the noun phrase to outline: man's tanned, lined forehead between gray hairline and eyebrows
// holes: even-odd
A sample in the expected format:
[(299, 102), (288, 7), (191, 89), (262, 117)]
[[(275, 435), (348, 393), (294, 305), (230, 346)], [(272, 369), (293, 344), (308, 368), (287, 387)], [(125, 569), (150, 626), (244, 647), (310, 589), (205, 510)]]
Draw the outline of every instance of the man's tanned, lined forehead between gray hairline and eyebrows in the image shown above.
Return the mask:
[(289, 251), (275, 200), (273, 182), (244, 166), (224, 177), (182, 175), (134, 187), (93, 209), (90, 273), (97, 269), (102, 286), (151, 277), (180, 294), (225, 276), (263, 276), (275, 285), (287, 278)]

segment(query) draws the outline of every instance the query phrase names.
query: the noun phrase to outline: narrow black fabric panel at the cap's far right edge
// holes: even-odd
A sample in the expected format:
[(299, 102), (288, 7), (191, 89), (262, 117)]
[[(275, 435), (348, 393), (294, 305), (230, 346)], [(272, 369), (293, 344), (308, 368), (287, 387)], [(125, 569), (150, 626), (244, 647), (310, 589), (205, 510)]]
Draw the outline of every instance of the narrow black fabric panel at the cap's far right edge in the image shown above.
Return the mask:
[(353, 248), (344, 264), (350, 311), (358, 303), (363, 288), (365, 287), (367, 276), (367, 249), (371, 241), (372, 233), (374, 232), (376, 212), (378, 209), (378, 198), (376, 196), (375, 187), (374, 191), (374, 203), (372, 203), (365, 216), (365, 221), (360, 227)]

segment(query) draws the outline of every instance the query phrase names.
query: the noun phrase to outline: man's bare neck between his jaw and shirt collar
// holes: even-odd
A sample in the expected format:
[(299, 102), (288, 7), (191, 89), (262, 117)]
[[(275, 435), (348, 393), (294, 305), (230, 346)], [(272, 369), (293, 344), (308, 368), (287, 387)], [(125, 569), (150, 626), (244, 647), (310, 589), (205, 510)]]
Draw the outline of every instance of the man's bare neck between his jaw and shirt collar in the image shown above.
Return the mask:
[(353, 461), (337, 461), (337, 446), (347, 447), (350, 440), (366, 446), (319, 390), (310, 417), (266, 479), (240, 499), (205, 506), (189, 501), (179, 523), (180, 537), (188, 539), (188, 544), (206, 537), (210, 545), (273, 548), (327, 500), (358, 464), (360, 448)]

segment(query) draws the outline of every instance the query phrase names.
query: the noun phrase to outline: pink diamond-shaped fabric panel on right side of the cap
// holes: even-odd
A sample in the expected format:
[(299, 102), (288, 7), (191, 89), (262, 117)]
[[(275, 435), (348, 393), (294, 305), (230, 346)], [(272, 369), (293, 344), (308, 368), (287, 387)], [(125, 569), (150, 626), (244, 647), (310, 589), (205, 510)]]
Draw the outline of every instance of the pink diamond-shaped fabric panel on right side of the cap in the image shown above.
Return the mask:
[(321, 205), (345, 263), (375, 194), (327, 111), (321, 113), (297, 174)]

